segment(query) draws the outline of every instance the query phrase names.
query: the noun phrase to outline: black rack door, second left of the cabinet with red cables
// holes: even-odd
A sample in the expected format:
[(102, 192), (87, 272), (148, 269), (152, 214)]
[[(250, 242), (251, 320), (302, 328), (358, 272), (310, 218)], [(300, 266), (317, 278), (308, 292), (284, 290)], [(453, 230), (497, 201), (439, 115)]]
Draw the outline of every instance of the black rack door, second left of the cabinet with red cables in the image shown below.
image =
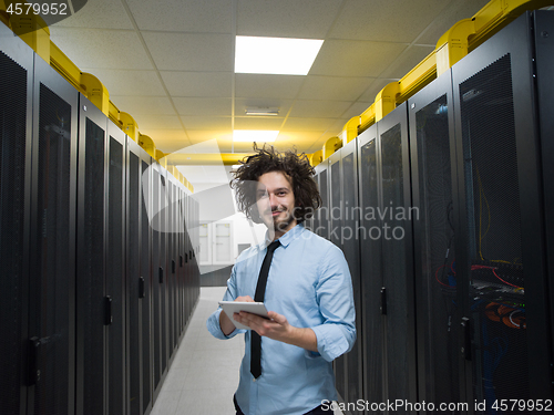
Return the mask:
[[(378, 123), (381, 157), (382, 273), (387, 396), (417, 402), (410, 162), (406, 103)], [(411, 411), (407, 411), (411, 413)]]

